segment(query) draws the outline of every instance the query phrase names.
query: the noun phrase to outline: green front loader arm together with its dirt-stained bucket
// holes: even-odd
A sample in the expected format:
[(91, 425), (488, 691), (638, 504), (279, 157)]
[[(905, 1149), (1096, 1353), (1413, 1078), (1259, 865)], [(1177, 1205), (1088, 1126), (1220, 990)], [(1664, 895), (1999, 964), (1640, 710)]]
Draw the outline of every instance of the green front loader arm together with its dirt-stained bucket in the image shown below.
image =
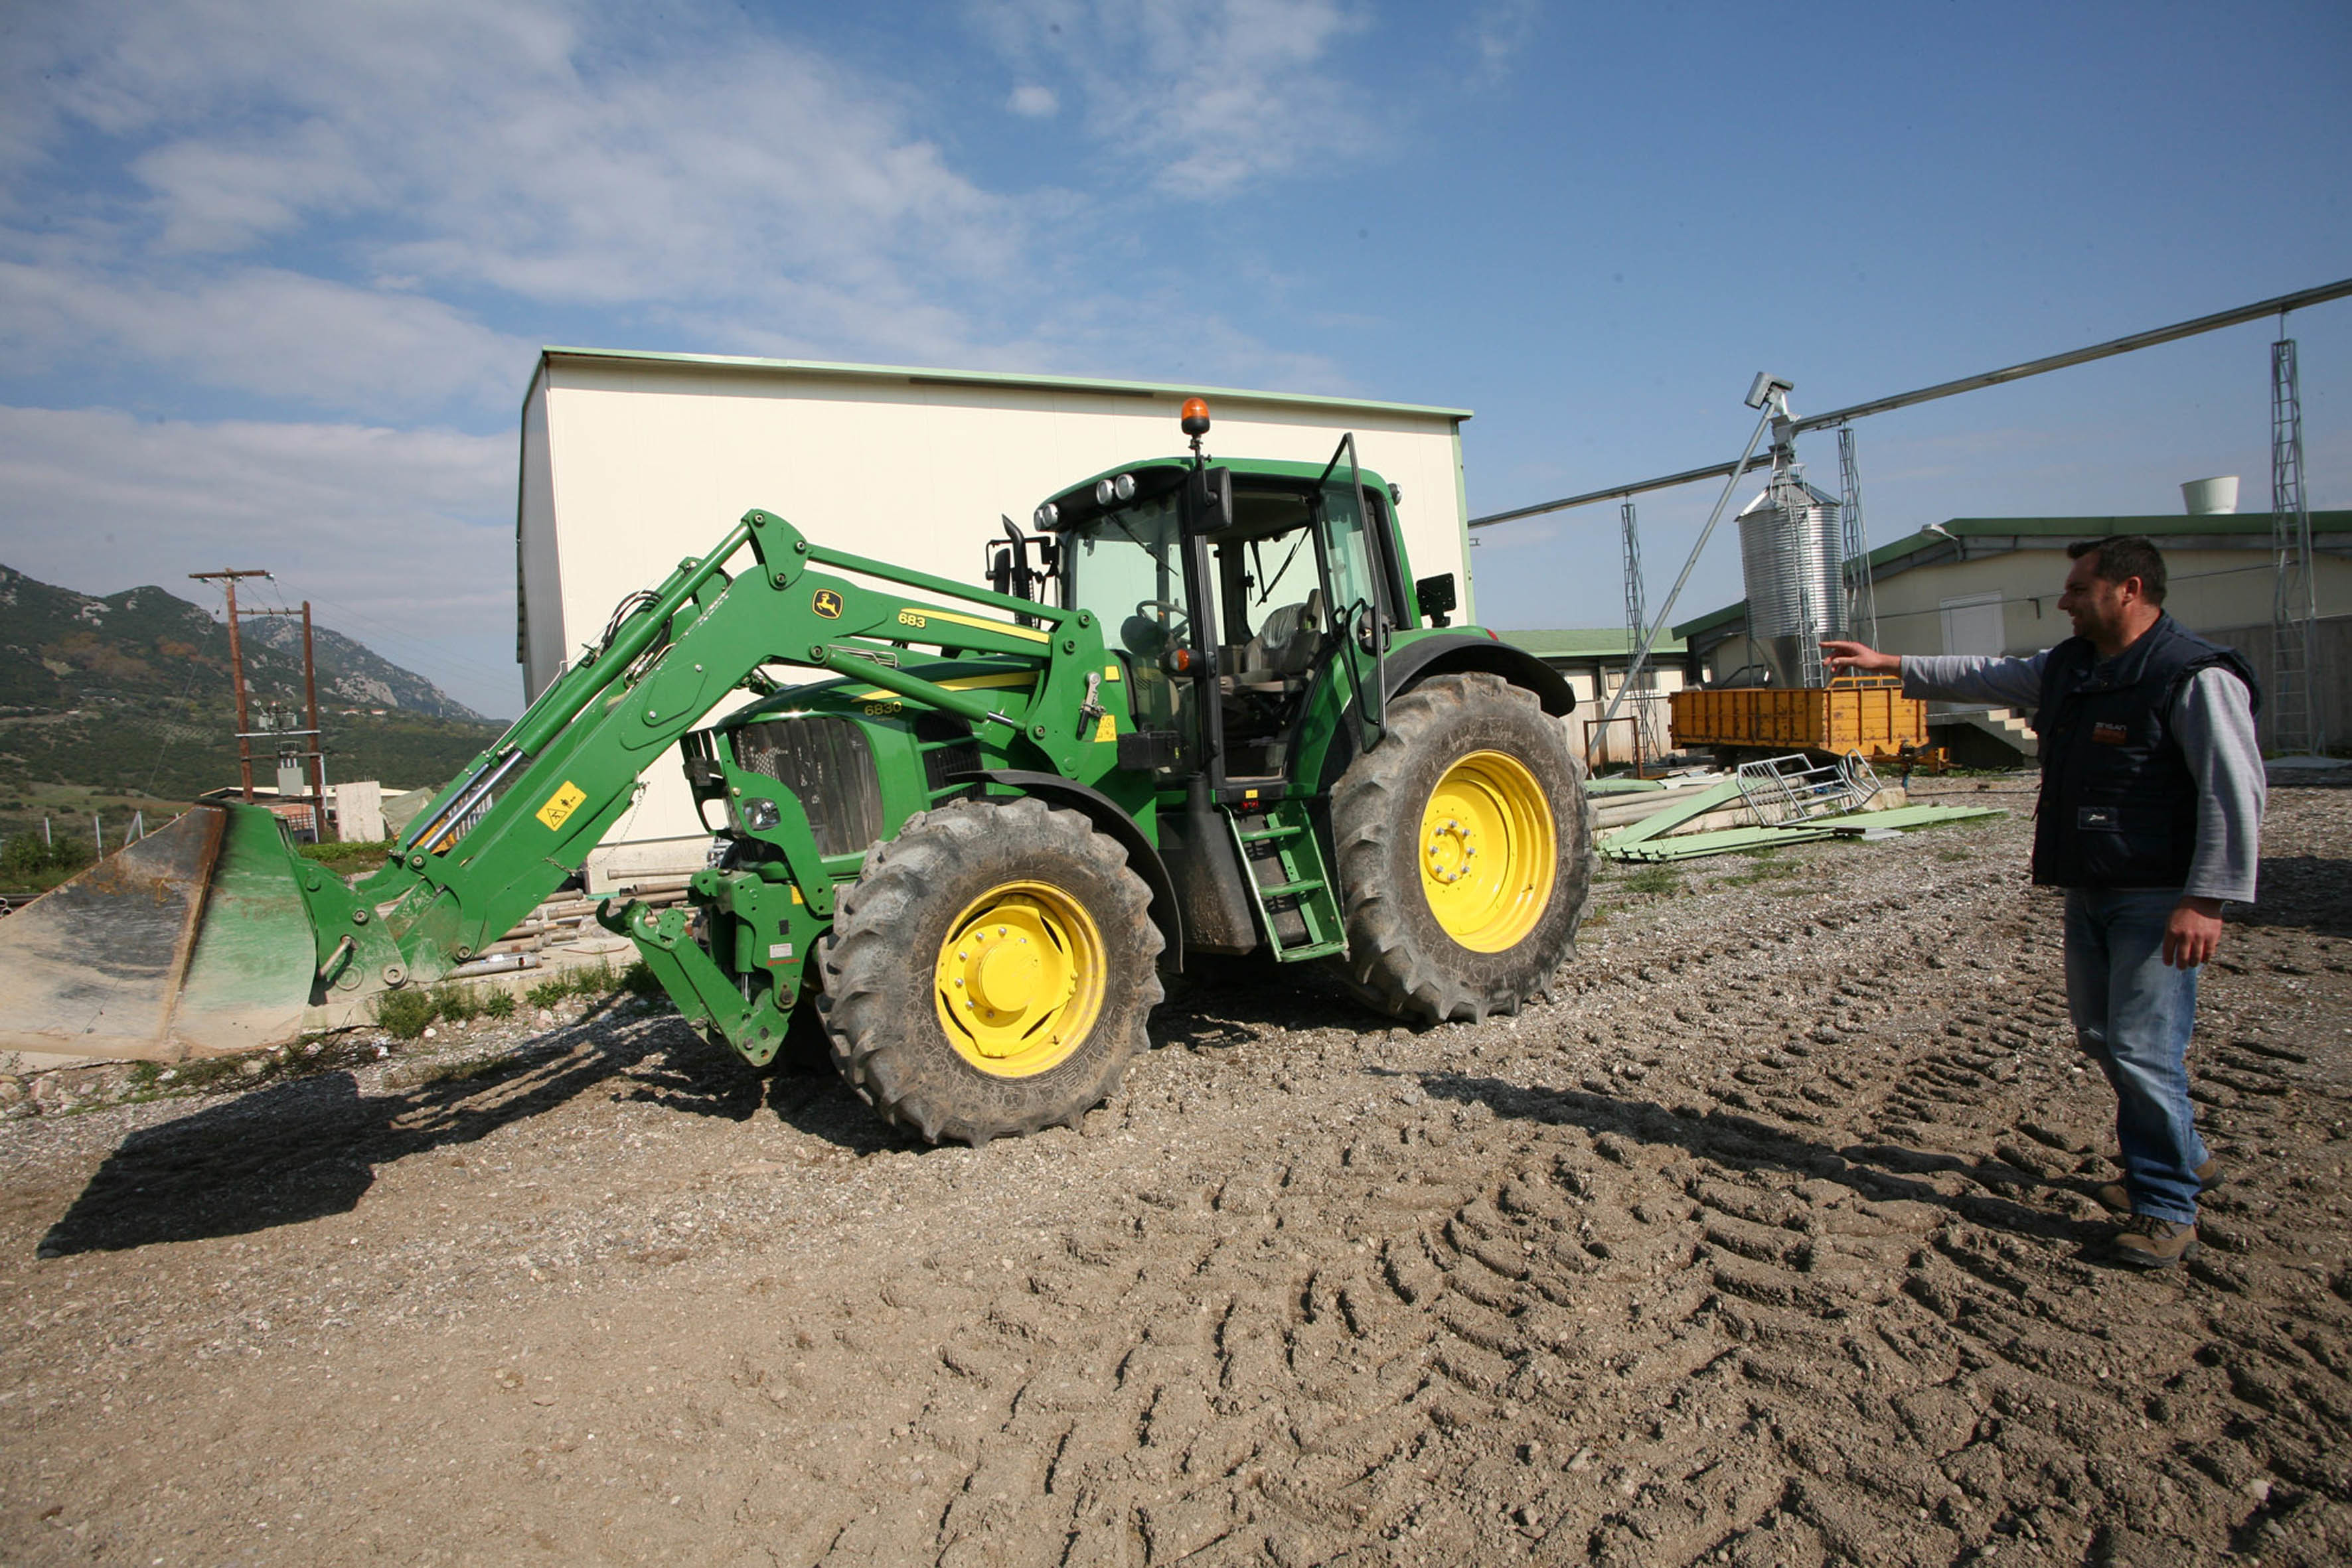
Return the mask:
[[(741, 569), (729, 574), (729, 562)], [(908, 646), (1000, 658), (1035, 679), (950, 689), (898, 668)], [(318, 1009), (346, 1020), (369, 992), (435, 980), (586, 863), (670, 743), (731, 691), (774, 691), (767, 665), (854, 675), (955, 715), (993, 769), (1094, 783), (1117, 766), (1087, 689), (1087, 672), (1103, 668), (1094, 616), (826, 550), (755, 510), (708, 555), (630, 595), (597, 646), (358, 886), (299, 858), (268, 811), (202, 806), (0, 922), (0, 1044), (151, 1060), (249, 1051), (315, 1025)], [(793, 882), (774, 891), (826, 919), (833, 884), (807, 816), (781, 785), (774, 795), (779, 820), (762, 837)], [(748, 905), (760, 891), (734, 896)], [(694, 947), (680, 943), (682, 926), (656, 929), (642, 907), (602, 919), (637, 938), (694, 1016), (724, 1013), (727, 997), (713, 1001), (724, 976), (699, 950), (682, 952)], [(788, 992), (767, 997), (769, 1011)], [(764, 1013), (722, 1023), (776, 1037)]]

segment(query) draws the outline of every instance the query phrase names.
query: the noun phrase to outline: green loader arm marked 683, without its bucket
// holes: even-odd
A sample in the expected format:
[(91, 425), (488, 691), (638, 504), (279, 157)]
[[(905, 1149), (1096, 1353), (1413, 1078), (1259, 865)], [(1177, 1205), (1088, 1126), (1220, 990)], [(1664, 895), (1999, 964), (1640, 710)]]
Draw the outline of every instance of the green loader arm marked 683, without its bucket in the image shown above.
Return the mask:
[[(753, 564), (729, 574), (746, 548)], [(896, 668), (910, 644), (1030, 661), (1037, 682), (950, 691)], [(1082, 757), (1094, 731), (1075, 715), (1084, 672), (1101, 663), (1101, 628), (1087, 611), (828, 550), (774, 512), (746, 512), (717, 548), (637, 595), (602, 646), (433, 799), (383, 870), (355, 889), (303, 877), (318, 983), (428, 980), (499, 940), (583, 865), (670, 743), (731, 691), (767, 689), (764, 665), (856, 675), (969, 719), (988, 750), (1021, 766), (1080, 776), (1091, 771)], [(814, 844), (790, 858), (814, 870)]]

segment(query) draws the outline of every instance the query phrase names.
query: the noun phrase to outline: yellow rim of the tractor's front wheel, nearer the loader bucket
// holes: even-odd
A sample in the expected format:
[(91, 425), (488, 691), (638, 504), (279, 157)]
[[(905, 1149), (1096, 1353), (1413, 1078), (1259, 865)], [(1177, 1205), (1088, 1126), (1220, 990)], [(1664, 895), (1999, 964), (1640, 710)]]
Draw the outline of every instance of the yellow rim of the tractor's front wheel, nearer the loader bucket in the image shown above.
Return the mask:
[(1025, 1079), (1068, 1060), (1103, 1016), (1103, 933), (1061, 889), (1007, 882), (948, 926), (931, 983), (957, 1056)]

